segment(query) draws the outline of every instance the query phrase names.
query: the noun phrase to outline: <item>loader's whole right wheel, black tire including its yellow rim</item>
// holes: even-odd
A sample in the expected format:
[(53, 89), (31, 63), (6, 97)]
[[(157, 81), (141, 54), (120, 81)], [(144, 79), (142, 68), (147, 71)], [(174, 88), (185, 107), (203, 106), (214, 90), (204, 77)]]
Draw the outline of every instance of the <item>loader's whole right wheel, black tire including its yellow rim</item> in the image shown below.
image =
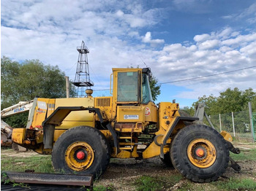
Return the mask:
[(172, 141), (173, 166), (193, 182), (212, 182), (225, 173), (229, 150), (223, 137), (206, 125), (189, 125)]

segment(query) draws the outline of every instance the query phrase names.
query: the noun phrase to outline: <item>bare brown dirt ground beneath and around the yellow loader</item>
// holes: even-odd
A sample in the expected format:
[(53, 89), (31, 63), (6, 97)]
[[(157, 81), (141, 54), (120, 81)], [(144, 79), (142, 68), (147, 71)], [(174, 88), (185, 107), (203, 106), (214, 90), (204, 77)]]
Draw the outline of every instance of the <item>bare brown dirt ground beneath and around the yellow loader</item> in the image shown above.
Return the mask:
[[(236, 144), (243, 150), (256, 149), (256, 145), (248, 144)], [(29, 157), (38, 155), (35, 152), (13, 152), (11, 149), (2, 149), (1, 157)], [(227, 168), (227, 171), (223, 176), (219, 178), (219, 181), (224, 179), (229, 179), (232, 177), (238, 179), (250, 178), (256, 181), (256, 159), (252, 160), (241, 160), (236, 161), (241, 165), (240, 173), (236, 173), (233, 168)], [(174, 176), (178, 175), (178, 172), (173, 168), (167, 168), (165, 164), (162, 163), (159, 157), (154, 157), (146, 160), (135, 160), (135, 159), (111, 159), (110, 165), (107, 171), (103, 174), (99, 180), (94, 182), (94, 185), (112, 186), (116, 190), (135, 190), (135, 185), (132, 183), (140, 176)], [(181, 179), (180, 182), (175, 184), (173, 187), (167, 190), (178, 190), (183, 185), (192, 183), (188, 179)], [(193, 187), (202, 187), (202, 184), (192, 183)], [(216, 190), (212, 184), (204, 184), (204, 190)], [(197, 190), (197, 189), (195, 189)]]

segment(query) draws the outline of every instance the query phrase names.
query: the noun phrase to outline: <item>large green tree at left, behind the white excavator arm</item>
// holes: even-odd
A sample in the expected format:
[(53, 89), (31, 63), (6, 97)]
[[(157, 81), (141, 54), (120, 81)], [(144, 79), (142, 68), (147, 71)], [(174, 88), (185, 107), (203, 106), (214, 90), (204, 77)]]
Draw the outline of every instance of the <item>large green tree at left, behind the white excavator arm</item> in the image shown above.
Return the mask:
[[(58, 66), (45, 66), (38, 60), (23, 63), (1, 58), (1, 109), (19, 101), (30, 101), (35, 97), (65, 98), (66, 79)], [(70, 84), (70, 97), (75, 87)], [(12, 127), (24, 127), (28, 114), (18, 114), (5, 119)]]

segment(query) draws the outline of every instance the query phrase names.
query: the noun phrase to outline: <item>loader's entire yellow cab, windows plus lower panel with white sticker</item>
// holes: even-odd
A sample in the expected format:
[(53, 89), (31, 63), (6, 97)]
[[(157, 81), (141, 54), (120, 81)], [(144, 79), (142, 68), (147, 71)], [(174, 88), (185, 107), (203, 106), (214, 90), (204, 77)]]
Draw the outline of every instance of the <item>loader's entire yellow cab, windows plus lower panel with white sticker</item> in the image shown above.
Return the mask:
[(126, 126), (127, 132), (141, 132), (145, 125), (157, 122), (157, 106), (149, 85), (150, 74), (148, 68), (113, 69), (112, 119), (116, 121), (116, 130), (123, 132), (120, 127)]

